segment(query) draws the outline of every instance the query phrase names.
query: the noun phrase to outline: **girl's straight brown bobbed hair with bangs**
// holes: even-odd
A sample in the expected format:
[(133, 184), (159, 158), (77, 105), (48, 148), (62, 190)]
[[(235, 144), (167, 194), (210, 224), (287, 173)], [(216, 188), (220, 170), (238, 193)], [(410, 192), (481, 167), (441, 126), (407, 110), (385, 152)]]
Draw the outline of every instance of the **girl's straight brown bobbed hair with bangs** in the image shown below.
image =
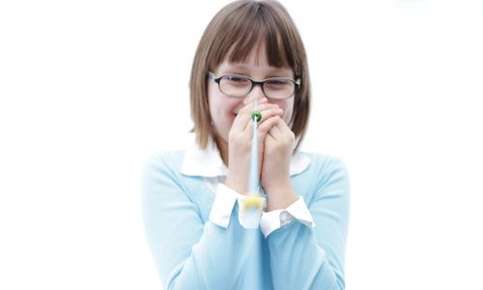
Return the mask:
[[(207, 73), (225, 58), (241, 62), (259, 42), (266, 44), (268, 63), (290, 67), (301, 85), (294, 96), (292, 118), (288, 124), (298, 139), (297, 151), (307, 129), (310, 109), (310, 80), (302, 39), (287, 10), (274, 0), (240, 0), (223, 7), (206, 27), (198, 44), (190, 79), (191, 118), (196, 142), (206, 148), (215, 136), (208, 104)], [(236, 46), (236, 49), (232, 49)]]

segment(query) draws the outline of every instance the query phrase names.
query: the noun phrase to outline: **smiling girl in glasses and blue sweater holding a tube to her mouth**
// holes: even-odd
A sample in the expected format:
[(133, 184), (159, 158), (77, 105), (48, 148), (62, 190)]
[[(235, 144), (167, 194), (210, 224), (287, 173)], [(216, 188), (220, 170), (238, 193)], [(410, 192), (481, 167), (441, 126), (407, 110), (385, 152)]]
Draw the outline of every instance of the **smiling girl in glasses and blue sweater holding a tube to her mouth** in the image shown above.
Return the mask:
[[(300, 35), (276, 1), (236, 1), (193, 62), (188, 150), (148, 163), (147, 239), (166, 290), (344, 289), (349, 182), (337, 158), (298, 150), (310, 79)], [(259, 194), (248, 196), (253, 110)]]

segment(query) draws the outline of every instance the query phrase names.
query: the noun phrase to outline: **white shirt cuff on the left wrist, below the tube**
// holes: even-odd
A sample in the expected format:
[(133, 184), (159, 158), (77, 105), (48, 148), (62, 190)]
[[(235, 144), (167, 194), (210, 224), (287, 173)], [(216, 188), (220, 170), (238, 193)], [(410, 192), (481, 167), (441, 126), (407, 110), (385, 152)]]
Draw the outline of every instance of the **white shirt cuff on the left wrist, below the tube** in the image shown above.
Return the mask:
[[(238, 193), (223, 183), (219, 183), (216, 192), (215, 200), (210, 210), (209, 220), (223, 228), (227, 228), (230, 224), (231, 213), (238, 202), (238, 221), (246, 229), (255, 229), (259, 227), (260, 217), (263, 213), (262, 208), (251, 208), (246, 210), (242, 204), (249, 198), (247, 195)], [(266, 204), (263, 198), (263, 204)]]

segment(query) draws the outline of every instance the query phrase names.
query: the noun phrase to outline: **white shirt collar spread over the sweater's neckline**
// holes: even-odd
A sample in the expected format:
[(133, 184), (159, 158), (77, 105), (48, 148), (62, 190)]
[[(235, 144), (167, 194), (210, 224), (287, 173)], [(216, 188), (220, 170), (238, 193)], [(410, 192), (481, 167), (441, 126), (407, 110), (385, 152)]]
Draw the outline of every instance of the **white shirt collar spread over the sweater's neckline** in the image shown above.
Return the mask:
[[(218, 177), (226, 176), (228, 168), (223, 163), (218, 147), (212, 138), (206, 149), (201, 149), (195, 138), (191, 138), (185, 152), (181, 173), (188, 176)], [(301, 152), (295, 153), (290, 161), (290, 175), (303, 172), (310, 165), (310, 158)]]

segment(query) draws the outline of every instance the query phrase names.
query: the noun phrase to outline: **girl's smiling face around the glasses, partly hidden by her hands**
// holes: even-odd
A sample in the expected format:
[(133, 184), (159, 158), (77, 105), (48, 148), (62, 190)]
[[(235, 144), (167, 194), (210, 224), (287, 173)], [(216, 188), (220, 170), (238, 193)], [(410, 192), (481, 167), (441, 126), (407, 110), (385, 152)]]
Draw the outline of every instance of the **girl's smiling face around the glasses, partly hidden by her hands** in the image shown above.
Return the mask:
[[(268, 64), (264, 44), (255, 46), (246, 62), (230, 63), (226, 60), (213, 71), (217, 76), (222, 74), (245, 75), (254, 80), (263, 80), (269, 77), (290, 77), (293, 71), (290, 68), (276, 68)], [(261, 86), (254, 86), (251, 92), (243, 98), (233, 98), (224, 95), (213, 80), (208, 80), (208, 99), (213, 125), (219, 137), (225, 142), (228, 140), (235, 114), (244, 106), (245, 99), (257, 98), (258, 102), (267, 100), (268, 103), (277, 104), (283, 111), (283, 119), (288, 124), (293, 112), (294, 98), (284, 100), (267, 99)]]

